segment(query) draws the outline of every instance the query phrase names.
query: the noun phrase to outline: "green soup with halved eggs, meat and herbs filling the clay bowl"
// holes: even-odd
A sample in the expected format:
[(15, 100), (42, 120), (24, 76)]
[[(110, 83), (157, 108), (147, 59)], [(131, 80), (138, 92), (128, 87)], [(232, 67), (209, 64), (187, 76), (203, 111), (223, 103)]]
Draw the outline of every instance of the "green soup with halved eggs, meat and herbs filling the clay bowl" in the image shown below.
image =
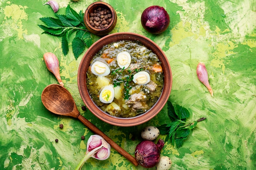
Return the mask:
[(159, 99), (163, 85), (164, 73), (157, 55), (134, 41), (103, 46), (87, 71), (90, 97), (115, 117), (145, 113)]

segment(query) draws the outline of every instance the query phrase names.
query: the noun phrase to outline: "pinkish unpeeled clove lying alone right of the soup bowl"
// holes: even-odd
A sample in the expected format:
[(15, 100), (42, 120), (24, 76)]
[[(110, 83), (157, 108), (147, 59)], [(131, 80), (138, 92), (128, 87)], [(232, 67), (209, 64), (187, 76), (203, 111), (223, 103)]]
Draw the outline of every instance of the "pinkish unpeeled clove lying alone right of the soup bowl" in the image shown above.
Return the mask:
[(198, 63), (198, 66), (196, 68), (196, 74), (198, 75), (198, 79), (200, 80), (200, 82), (202, 82), (202, 84), (207, 87), (207, 89), (211, 93), (211, 96), (213, 97), (213, 90), (209, 84), (208, 73), (204, 63)]

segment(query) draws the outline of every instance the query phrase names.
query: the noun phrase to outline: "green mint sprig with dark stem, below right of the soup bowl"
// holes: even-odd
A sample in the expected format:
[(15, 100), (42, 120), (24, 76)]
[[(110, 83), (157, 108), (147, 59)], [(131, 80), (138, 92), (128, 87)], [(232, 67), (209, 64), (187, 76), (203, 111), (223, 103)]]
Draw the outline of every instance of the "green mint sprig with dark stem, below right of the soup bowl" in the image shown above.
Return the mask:
[(176, 144), (177, 148), (183, 145), (183, 142), (189, 136), (191, 130), (195, 128), (199, 121), (205, 120), (206, 117), (201, 117), (195, 121), (187, 121), (190, 116), (189, 110), (186, 108), (175, 105), (170, 101), (167, 101), (168, 116), (171, 122), (168, 124), (163, 124), (157, 127), (161, 134), (167, 135), (166, 140), (170, 139), (171, 144), (174, 146)]

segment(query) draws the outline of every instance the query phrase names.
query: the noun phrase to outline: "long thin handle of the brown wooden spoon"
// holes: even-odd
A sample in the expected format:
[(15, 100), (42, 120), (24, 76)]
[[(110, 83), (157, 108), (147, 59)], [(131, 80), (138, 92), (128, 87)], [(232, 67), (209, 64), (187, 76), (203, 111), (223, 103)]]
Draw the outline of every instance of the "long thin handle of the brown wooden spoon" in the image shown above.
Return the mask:
[(105, 135), (105, 133), (103, 133), (101, 130), (99, 130), (94, 124), (92, 124), (90, 121), (88, 121), (87, 119), (85, 119), (82, 115), (79, 114), (79, 116), (77, 117), (81, 122), (83, 122), (83, 124), (85, 124), (85, 126), (87, 126), (90, 130), (92, 130), (92, 132), (96, 133), (97, 135), (100, 135), (101, 137), (103, 137), (103, 139), (105, 139), (112, 148), (114, 148), (115, 150), (117, 150), (117, 152), (119, 152), (121, 155), (123, 155), (124, 157), (126, 157), (129, 161), (131, 161), (135, 166), (138, 166), (139, 163), (136, 161), (136, 159), (134, 157), (132, 157), (132, 155), (130, 155), (128, 152), (126, 152), (123, 148), (121, 148), (119, 145), (117, 145), (114, 141), (112, 141), (112, 139), (110, 139), (107, 135)]

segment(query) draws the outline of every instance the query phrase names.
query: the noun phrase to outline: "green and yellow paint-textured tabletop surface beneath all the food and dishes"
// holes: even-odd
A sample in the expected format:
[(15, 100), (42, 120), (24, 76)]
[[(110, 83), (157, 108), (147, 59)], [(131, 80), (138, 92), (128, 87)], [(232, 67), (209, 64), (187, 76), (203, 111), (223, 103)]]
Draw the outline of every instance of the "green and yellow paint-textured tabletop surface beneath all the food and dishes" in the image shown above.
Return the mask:
[[(56, 0), (64, 14), (68, 4), (85, 11), (93, 0)], [(43, 106), (43, 89), (57, 83), (43, 61), (52, 52), (60, 61), (61, 78), (81, 115), (134, 155), (145, 126), (168, 122), (167, 106), (150, 121), (118, 127), (81, 109), (77, 71), (81, 55), (64, 56), (61, 39), (43, 32), (39, 18), (54, 17), (46, 0), (0, 1), (0, 170), (72, 170), (85, 154), (93, 133), (78, 119), (56, 116)], [(256, 0), (106, 0), (116, 9), (111, 33), (134, 32), (156, 42), (173, 72), (170, 100), (188, 108), (191, 120), (207, 117), (177, 149), (166, 142), (161, 155), (173, 161), (171, 170), (256, 170)], [(147, 33), (140, 16), (150, 5), (170, 15), (168, 29)], [(94, 36), (94, 41), (98, 40)], [(198, 62), (206, 64), (207, 88), (196, 76)], [(60, 129), (59, 124), (64, 128)], [(85, 140), (81, 141), (81, 136)], [(162, 139), (164, 135), (160, 135)], [(58, 138), (58, 143), (55, 139)], [(144, 170), (114, 149), (105, 161), (89, 159), (83, 170)], [(154, 169), (154, 168), (151, 168)]]

